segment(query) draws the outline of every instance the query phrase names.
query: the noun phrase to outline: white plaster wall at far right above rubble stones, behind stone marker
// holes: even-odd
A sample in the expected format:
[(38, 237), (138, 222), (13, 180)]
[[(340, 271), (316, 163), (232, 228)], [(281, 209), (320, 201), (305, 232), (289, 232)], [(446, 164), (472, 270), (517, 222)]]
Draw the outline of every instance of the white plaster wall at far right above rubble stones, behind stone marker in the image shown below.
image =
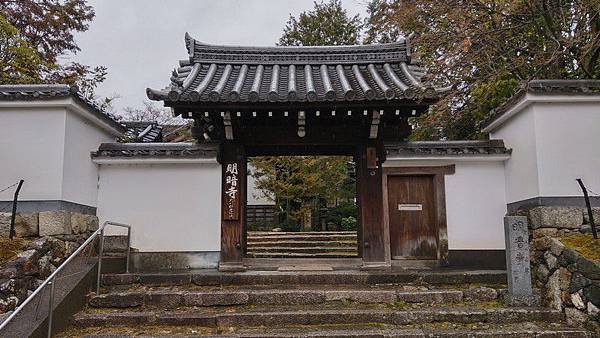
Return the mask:
[(600, 190), (600, 103), (552, 101), (532, 102), (490, 133), (513, 151), (506, 162), (508, 203), (581, 196), (576, 178)]

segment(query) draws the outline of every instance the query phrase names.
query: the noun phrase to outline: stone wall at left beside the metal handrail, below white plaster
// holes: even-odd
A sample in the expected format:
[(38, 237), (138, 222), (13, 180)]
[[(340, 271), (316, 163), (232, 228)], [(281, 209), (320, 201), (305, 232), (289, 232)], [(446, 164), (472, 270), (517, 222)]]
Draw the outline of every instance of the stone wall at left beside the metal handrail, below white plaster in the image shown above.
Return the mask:
[[(10, 213), (0, 213), (2, 236), (8, 236), (10, 221)], [(0, 267), (0, 313), (14, 310), (97, 229), (94, 215), (64, 210), (18, 213), (16, 236), (28, 243)]]

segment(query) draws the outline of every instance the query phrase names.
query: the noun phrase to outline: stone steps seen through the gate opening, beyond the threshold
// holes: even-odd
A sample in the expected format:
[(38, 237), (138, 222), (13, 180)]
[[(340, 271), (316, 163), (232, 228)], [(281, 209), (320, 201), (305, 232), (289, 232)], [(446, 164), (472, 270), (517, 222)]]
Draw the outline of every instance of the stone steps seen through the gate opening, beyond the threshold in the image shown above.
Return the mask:
[(249, 231), (250, 258), (352, 258), (358, 256), (356, 231)]

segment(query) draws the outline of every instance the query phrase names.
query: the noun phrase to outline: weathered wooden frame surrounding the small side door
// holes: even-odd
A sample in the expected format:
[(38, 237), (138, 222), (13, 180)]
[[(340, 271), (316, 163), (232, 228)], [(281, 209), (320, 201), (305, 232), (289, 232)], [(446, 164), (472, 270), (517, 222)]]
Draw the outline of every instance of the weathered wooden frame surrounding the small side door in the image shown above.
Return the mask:
[(436, 208), (437, 223), (437, 260), (440, 266), (448, 265), (448, 223), (446, 218), (446, 187), (445, 175), (455, 172), (455, 165), (446, 166), (418, 166), (418, 167), (385, 167), (383, 168), (382, 190), (383, 190), (383, 223), (385, 233), (385, 257), (386, 262), (391, 264), (390, 247), (390, 214), (388, 205), (388, 177), (389, 176), (432, 176), (433, 194)]

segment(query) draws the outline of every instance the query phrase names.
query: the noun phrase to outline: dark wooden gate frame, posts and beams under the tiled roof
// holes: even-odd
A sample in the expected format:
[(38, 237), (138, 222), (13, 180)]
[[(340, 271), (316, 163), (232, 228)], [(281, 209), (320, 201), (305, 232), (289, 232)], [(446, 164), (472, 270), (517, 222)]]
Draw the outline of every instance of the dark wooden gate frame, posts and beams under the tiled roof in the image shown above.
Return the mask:
[[(413, 106), (422, 109), (420, 105)], [(247, 158), (251, 156), (277, 155), (352, 155), (356, 162), (356, 193), (358, 202), (359, 256), (364, 269), (382, 269), (390, 265), (389, 234), (386, 247), (384, 225), (384, 197), (382, 191), (383, 163), (386, 160), (384, 142), (398, 140), (410, 133), (405, 109), (398, 115), (381, 115), (381, 110), (366, 113), (334, 114), (317, 119), (302, 120), (313, 127), (305, 135), (298, 134), (299, 112), (257, 112), (250, 116), (225, 110), (223, 114), (209, 111), (208, 114), (193, 113), (196, 121), (194, 134), (207, 133), (208, 138), (220, 140), (218, 159), (221, 164), (238, 163), (240, 179), (245, 175)], [(402, 114), (400, 114), (402, 113)], [(412, 114), (412, 113), (411, 113)], [(204, 120), (206, 118), (206, 120)], [(312, 121), (313, 124), (310, 124)], [(267, 122), (273, 122), (270, 125)], [(304, 124), (302, 125), (304, 126)], [(209, 128), (212, 127), (212, 128)], [(211, 133), (211, 134), (208, 134)], [(223, 169), (224, 170), (224, 169)], [(223, 177), (225, 172), (223, 171)], [(245, 176), (244, 176), (245, 178)], [(246, 252), (246, 180), (239, 210), (239, 219), (221, 219), (221, 271), (244, 270)], [(222, 184), (224, 186), (224, 184)], [(227, 198), (222, 196), (225, 208)], [(387, 257), (387, 258), (386, 258)]]

